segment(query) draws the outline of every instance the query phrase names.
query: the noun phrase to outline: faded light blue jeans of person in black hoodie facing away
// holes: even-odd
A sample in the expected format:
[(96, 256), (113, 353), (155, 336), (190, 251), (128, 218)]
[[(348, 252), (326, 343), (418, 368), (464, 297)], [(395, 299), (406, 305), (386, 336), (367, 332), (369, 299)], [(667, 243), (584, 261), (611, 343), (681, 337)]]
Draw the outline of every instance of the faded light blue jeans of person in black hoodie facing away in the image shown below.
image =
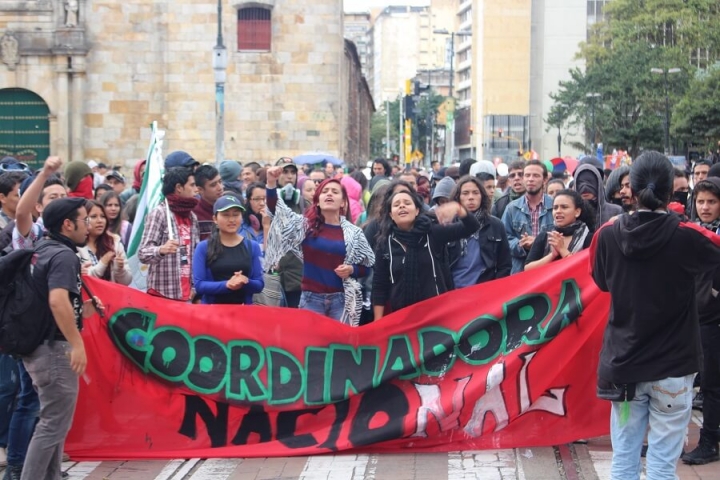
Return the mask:
[(622, 419), (622, 402), (613, 402), (610, 415), (612, 480), (636, 480), (642, 472), (640, 451), (648, 424), (647, 480), (676, 480), (692, 414), (693, 375), (637, 384), (630, 414)]

